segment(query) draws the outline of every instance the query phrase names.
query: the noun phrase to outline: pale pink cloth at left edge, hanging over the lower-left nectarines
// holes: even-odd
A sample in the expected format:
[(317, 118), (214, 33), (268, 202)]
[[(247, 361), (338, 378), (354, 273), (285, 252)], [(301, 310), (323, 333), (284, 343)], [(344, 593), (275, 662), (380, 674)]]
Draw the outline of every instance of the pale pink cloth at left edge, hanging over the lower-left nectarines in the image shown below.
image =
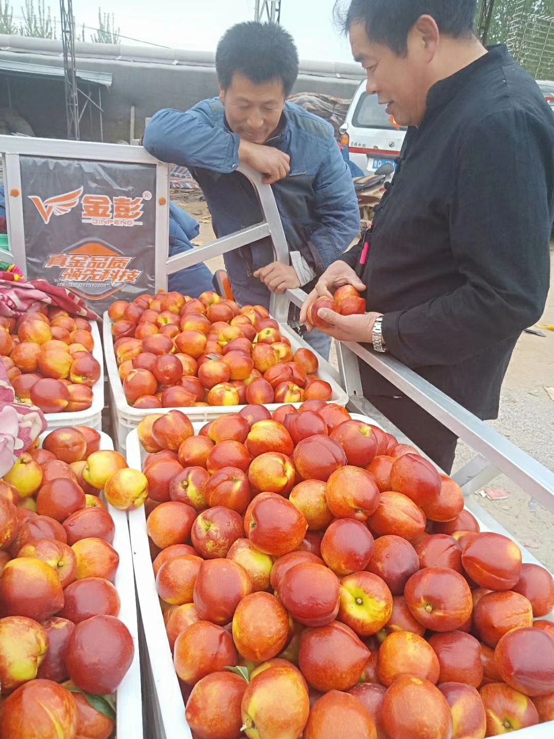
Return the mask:
[(40, 409), (16, 401), (16, 393), (0, 362), (0, 477), (10, 471), (21, 454), (47, 429)]

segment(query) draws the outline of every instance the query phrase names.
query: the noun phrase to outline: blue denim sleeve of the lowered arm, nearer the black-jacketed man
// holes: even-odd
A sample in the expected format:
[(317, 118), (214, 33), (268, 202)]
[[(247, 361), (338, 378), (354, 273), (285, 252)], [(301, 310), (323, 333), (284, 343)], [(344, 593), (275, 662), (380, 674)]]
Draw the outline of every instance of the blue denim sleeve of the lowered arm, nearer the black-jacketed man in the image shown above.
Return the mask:
[(326, 140), (326, 154), (314, 180), (318, 225), (308, 234), (318, 273), (339, 259), (360, 232), (360, 211), (352, 175), (335, 138)]

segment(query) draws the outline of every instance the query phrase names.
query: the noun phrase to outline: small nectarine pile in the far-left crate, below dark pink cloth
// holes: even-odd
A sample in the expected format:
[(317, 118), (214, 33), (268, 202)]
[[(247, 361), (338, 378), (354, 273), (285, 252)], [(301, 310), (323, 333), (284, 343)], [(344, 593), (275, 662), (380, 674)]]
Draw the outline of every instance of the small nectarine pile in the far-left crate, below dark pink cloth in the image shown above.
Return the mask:
[(22, 403), (44, 413), (74, 413), (92, 406), (100, 364), (92, 356), (89, 321), (53, 306), (18, 319), (0, 316), (0, 355)]

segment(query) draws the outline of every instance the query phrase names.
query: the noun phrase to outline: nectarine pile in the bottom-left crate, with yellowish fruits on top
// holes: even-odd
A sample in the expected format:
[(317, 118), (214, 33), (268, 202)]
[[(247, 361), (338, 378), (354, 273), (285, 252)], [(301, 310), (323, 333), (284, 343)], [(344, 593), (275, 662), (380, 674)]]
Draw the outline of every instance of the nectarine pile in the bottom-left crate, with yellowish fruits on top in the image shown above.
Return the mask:
[(117, 618), (114, 521), (99, 496), (111, 488), (132, 505), (126, 472), (146, 496), (143, 474), (76, 426), (49, 433), (0, 480), (1, 739), (112, 736), (112, 699), (100, 696), (123, 680), (134, 644)]

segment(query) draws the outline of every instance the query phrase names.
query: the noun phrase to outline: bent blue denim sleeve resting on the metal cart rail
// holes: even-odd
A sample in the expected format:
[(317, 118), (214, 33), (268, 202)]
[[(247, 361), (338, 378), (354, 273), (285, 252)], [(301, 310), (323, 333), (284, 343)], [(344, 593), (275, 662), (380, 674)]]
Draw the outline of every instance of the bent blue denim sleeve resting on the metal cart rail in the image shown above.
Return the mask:
[(239, 137), (218, 125), (211, 101), (183, 113), (164, 109), (144, 133), (144, 148), (163, 162), (228, 174), (239, 166)]

